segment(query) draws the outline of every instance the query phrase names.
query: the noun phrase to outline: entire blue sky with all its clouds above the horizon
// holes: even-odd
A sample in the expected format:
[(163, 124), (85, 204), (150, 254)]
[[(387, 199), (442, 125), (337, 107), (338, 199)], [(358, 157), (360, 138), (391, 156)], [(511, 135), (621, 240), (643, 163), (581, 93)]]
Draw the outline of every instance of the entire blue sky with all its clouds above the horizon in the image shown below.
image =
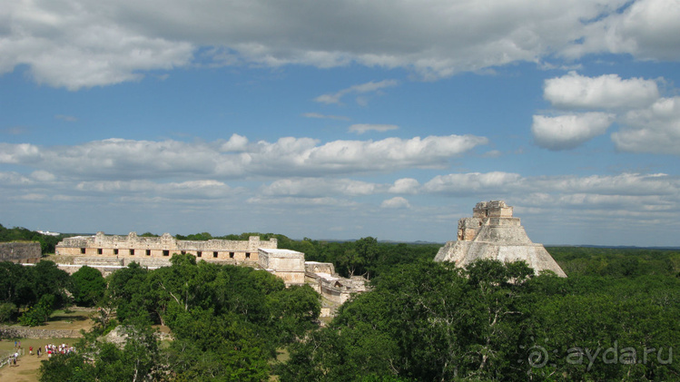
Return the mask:
[(680, 245), (680, 1), (5, 4), (5, 226)]

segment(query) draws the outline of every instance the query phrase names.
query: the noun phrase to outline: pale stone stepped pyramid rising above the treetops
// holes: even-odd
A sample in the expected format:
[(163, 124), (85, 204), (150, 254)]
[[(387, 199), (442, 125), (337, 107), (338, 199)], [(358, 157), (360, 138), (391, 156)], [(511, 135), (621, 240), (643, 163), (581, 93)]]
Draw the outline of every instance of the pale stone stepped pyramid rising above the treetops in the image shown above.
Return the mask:
[(449, 261), (465, 268), (478, 259), (524, 260), (536, 273), (552, 270), (557, 276), (567, 277), (542, 244), (529, 240), (505, 201), (477, 203), (471, 218), (458, 220), (457, 239), (440, 248), (435, 261)]

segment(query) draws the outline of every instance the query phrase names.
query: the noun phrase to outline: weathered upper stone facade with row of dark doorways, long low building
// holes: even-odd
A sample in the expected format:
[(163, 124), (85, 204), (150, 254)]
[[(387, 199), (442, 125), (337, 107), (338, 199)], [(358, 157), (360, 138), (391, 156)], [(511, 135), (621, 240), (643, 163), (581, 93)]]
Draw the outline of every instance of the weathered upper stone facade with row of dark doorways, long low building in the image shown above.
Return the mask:
[(276, 239), (260, 240), (176, 240), (169, 233), (157, 238), (137, 236), (106, 236), (97, 232), (94, 236), (66, 238), (56, 245), (56, 255), (109, 257), (114, 259), (170, 259), (174, 253), (188, 253), (196, 260), (223, 260), (228, 262), (258, 262), (258, 249), (276, 249)]

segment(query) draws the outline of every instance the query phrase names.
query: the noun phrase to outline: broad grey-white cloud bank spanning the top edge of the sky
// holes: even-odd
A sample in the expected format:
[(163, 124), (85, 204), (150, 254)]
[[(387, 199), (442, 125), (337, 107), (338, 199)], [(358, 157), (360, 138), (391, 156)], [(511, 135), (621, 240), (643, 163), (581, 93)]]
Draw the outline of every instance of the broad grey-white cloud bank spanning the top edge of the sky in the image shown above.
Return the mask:
[[(531, 0), (7, 0), (3, 5), (0, 73), (27, 65), (37, 83), (72, 90), (188, 66), (360, 64), (438, 79), (584, 54), (680, 58), (678, 0), (540, 6)], [(339, 103), (347, 93), (325, 94), (318, 101)]]

